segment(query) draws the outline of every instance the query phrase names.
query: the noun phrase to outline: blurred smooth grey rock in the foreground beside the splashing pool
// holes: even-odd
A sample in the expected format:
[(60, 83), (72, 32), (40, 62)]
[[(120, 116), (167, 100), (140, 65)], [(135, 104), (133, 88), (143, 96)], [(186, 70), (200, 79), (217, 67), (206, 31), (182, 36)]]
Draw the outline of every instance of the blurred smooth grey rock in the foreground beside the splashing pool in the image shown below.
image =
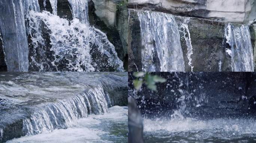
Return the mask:
[(128, 98), (128, 143), (143, 143), (143, 120), (133, 98)]

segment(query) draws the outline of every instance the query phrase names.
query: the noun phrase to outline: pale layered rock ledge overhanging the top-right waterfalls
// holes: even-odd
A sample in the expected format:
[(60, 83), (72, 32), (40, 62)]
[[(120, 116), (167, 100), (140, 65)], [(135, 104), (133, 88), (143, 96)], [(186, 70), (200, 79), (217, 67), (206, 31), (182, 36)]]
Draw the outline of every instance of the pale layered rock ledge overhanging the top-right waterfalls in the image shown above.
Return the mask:
[[(174, 15), (247, 23), (255, 13), (254, 0), (129, 0), (129, 8), (152, 9)], [(254, 18), (253, 18), (254, 17)]]

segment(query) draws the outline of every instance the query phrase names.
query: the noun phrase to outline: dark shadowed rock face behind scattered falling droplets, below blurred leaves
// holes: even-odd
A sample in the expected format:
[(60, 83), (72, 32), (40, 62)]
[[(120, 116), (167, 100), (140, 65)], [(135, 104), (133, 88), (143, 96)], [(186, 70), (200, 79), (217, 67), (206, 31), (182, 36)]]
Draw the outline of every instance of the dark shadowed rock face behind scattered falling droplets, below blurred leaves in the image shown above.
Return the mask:
[[(152, 73), (167, 79), (158, 92), (143, 86), (133, 92), (129, 74), (129, 96), (133, 96), (144, 116), (170, 118), (174, 111), (184, 117), (218, 118), (255, 115), (254, 73)], [(249, 108), (250, 107), (250, 108)]]

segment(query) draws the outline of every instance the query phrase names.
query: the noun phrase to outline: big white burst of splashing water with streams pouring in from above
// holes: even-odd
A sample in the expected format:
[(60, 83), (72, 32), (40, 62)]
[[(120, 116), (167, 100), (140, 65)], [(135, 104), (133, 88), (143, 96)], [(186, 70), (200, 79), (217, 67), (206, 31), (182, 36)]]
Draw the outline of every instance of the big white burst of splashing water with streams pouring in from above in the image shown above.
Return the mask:
[[(32, 36), (33, 47), (37, 47), (39, 44), (45, 45), (45, 39), (42, 37), (43, 32), (40, 30), (43, 22), (46, 25), (46, 29), (51, 31), (49, 33), (51, 51), (54, 51), (54, 61), (49, 64), (36, 61), (36, 54), (38, 53), (33, 49), (35, 55), (30, 57), (32, 65), (39, 67), (40, 71), (45, 71), (47, 67), (55, 67), (57, 71), (62, 71), (56, 63), (62, 63), (63, 61), (61, 60), (65, 59), (67, 60), (67, 69), (70, 71), (97, 71), (95, 67), (103, 66), (98, 65), (103, 63), (93, 62), (93, 60), (97, 61), (98, 59), (92, 59), (90, 52), (92, 48), (96, 48), (94, 50), (107, 56), (105, 67), (114, 67), (116, 71), (124, 71), (123, 62), (118, 58), (115, 47), (109, 42), (106, 34), (89, 26), (87, 1), (69, 0), (69, 2), (72, 6), (74, 17), (71, 22), (49, 12), (30, 11), (28, 30)], [(57, 12), (56, 0), (52, 0), (51, 4), (54, 11)], [(95, 44), (96, 47), (91, 47), (90, 44)]]

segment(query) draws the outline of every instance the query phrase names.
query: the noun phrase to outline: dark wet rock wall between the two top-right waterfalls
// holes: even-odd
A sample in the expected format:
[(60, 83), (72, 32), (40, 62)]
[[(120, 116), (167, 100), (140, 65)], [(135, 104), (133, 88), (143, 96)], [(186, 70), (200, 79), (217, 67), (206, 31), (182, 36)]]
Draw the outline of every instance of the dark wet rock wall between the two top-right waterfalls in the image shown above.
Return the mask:
[[(182, 23), (183, 19), (185, 18), (176, 17), (178, 24)], [(229, 61), (225, 59), (227, 56), (225, 45), (223, 45), (225, 23), (191, 18), (187, 25), (193, 47), (193, 54), (191, 55), (192, 66), (194, 66), (193, 71), (219, 71), (220, 60), (225, 65), (222, 70), (231, 71), (229, 63), (225, 63)], [(180, 32), (180, 35), (183, 35), (183, 33)], [(181, 44), (185, 61), (185, 71), (191, 71), (191, 67), (188, 65), (186, 41), (182, 40)]]

